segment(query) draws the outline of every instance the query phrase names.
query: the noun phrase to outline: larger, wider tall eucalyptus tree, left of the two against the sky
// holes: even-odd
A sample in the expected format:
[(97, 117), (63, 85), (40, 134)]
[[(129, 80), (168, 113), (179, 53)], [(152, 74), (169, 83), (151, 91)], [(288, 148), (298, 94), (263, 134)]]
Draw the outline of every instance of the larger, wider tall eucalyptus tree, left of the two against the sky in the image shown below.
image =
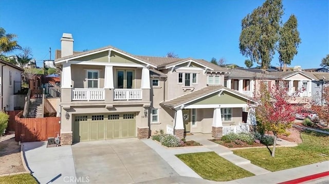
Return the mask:
[(267, 69), (275, 54), (283, 15), (281, 0), (266, 0), (242, 19), (239, 48), (243, 56)]

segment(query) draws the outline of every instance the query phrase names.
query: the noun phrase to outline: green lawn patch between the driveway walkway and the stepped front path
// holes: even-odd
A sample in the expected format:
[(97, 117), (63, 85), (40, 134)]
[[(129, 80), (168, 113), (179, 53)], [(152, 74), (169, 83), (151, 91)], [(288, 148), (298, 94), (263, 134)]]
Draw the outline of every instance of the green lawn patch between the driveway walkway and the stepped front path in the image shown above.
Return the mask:
[(204, 179), (230, 181), (254, 176), (254, 174), (235, 166), (215, 152), (188, 153), (176, 156)]

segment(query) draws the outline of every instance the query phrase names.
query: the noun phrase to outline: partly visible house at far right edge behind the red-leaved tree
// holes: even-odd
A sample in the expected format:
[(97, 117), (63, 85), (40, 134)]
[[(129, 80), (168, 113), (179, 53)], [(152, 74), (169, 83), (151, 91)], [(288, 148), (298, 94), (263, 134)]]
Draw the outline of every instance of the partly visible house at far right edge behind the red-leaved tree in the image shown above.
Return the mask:
[(316, 105), (324, 105), (326, 102), (322, 100), (323, 87), (329, 86), (329, 73), (312, 72), (317, 80), (312, 81), (312, 98)]

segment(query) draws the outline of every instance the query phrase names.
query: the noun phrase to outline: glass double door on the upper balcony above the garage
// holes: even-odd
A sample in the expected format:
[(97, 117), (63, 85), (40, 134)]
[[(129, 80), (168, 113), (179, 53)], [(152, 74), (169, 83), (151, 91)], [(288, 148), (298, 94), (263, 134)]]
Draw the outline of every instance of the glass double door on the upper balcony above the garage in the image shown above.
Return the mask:
[(134, 71), (118, 70), (117, 71), (117, 88), (133, 89)]

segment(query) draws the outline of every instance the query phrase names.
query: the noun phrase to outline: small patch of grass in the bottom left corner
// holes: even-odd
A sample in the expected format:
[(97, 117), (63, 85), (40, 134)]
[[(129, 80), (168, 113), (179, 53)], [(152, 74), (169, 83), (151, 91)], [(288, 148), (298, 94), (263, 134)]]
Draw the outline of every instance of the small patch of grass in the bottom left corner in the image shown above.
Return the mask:
[(12, 176), (0, 177), (0, 183), (1, 184), (5, 184), (5, 183), (30, 184), (30, 183), (38, 183), (38, 182), (36, 182), (35, 178), (30, 174), (17, 174)]

